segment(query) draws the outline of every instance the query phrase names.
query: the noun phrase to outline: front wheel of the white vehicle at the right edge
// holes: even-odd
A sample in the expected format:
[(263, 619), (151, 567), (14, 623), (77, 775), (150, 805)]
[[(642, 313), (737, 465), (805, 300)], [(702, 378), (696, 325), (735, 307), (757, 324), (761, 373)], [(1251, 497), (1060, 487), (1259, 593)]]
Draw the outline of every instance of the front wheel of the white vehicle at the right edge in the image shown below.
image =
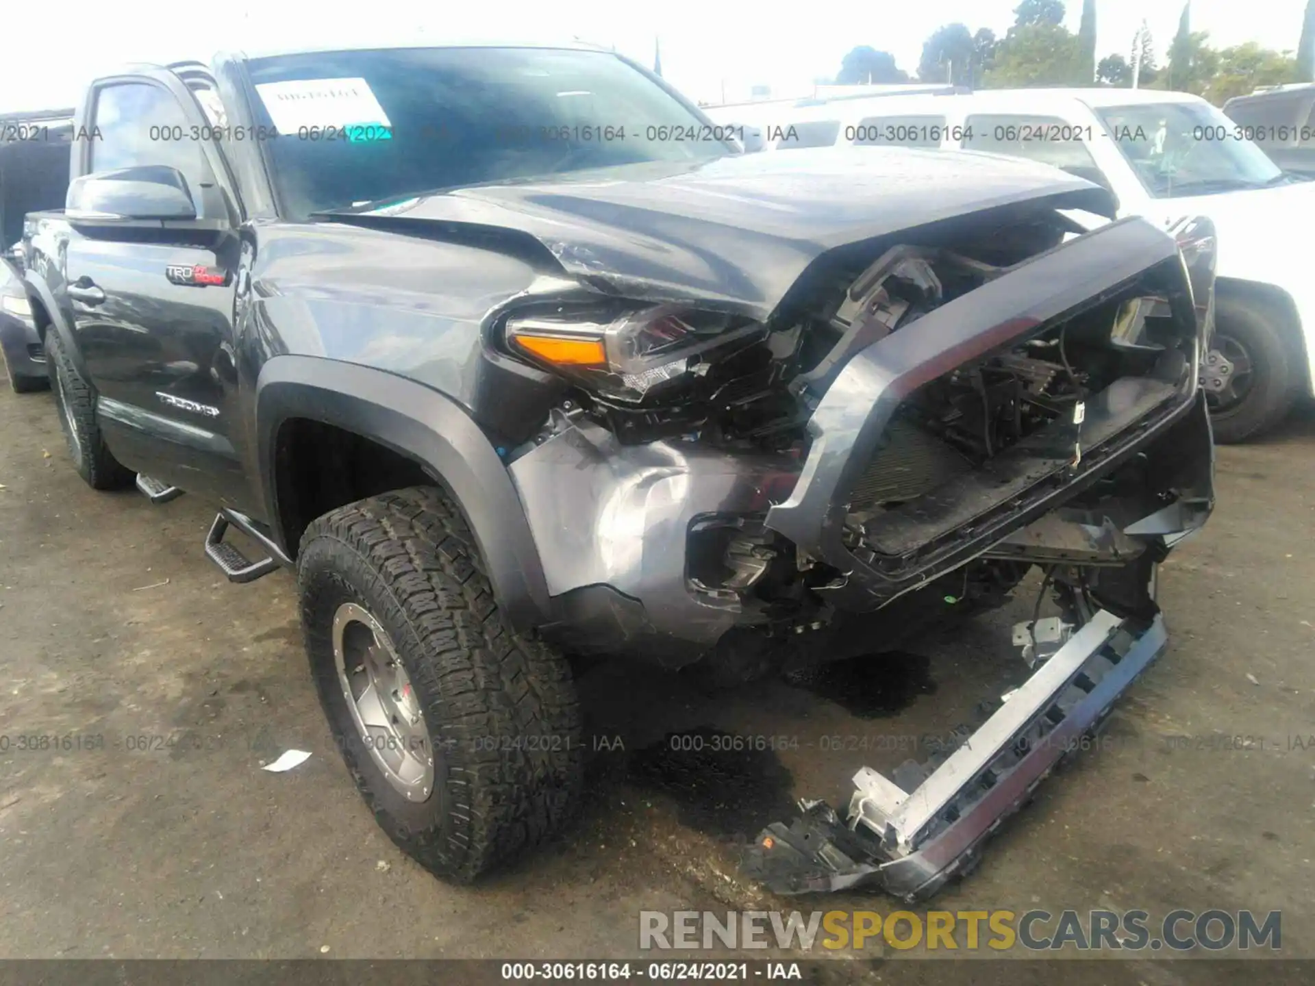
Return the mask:
[(1219, 444), (1255, 438), (1287, 414), (1297, 363), (1278, 316), (1255, 301), (1216, 301), (1214, 347), (1235, 362), (1226, 394), (1207, 394), (1210, 425)]

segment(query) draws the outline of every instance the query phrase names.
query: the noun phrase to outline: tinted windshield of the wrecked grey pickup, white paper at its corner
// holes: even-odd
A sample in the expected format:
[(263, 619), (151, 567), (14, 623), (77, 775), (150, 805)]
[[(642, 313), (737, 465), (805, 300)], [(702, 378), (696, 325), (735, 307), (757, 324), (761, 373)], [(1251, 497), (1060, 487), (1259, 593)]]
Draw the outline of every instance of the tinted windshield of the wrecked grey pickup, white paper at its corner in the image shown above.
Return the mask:
[[(256, 122), (295, 218), (419, 192), (734, 153), (608, 51), (397, 49), (252, 59)], [(262, 134), (263, 135), (263, 134)]]

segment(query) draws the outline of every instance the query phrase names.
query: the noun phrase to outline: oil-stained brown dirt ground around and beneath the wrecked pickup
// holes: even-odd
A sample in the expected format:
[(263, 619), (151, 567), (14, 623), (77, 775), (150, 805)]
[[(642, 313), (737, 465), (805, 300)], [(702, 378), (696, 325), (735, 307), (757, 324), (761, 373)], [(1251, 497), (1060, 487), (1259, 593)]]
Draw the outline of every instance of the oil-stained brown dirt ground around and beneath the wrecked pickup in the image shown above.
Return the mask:
[[(1219, 450), (1216, 513), (1162, 569), (1170, 649), (1101, 747), (1052, 777), (935, 907), (1281, 910), (1283, 954), (1315, 958), (1315, 749), (1302, 743), (1315, 734), (1312, 463), (1308, 411)], [(598, 738), (583, 819), (454, 889), (394, 849), (352, 789), (287, 573), (230, 585), (201, 551), (205, 504), (88, 489), (49, 394), (0, 387), (0, 484), (7, 958), (635, 957), (642, 910), (890, 911), (880, 894), (772, 899), (738, 876), (734, 843), (793, 798), (843, 803), (860, 765), (894, 766), (1026, 672), (1009, 624), (1031, 596), (830, 689), (713, 695), (604, 663), (581, 678)], [(700, 730), (798, 743), (715, 763), (658, 752), (665, 734)], [(42, 735), (104, 747), (16, 745)], [(259, 769), (288, 748), (312, 757)], [(934, 982), (942, 965), (847, 968)], [(1018, 966), (978, 965), (974, 979), (1002, 965)], [(1093, 981), (1235, 981), (1223, 966), (1189, 977), (1195, 965), (1139, 958)]]

